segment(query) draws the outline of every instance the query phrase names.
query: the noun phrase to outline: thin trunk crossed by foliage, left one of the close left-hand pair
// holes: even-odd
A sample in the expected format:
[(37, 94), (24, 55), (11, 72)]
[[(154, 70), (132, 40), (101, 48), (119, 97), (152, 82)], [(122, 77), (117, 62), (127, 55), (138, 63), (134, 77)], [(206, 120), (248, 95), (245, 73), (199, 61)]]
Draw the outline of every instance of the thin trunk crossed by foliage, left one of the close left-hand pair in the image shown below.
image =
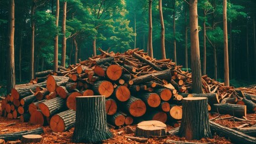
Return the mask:
[[(60, 1), (56, 0), (56, 28), (58, 28), (58, 16), (60, 13)], [(54, 71), (58, 71), (58, 34), (54, 37)]]

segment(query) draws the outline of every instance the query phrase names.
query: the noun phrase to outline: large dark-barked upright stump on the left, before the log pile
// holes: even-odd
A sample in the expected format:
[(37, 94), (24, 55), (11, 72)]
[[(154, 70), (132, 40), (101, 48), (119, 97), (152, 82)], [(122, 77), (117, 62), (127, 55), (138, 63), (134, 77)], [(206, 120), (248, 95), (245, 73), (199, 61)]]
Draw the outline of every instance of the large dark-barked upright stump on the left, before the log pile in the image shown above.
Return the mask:
[(107, 126), (104, 95), (76, 97), (76, 108), (74, 142), (98, 143), (112, 137)]

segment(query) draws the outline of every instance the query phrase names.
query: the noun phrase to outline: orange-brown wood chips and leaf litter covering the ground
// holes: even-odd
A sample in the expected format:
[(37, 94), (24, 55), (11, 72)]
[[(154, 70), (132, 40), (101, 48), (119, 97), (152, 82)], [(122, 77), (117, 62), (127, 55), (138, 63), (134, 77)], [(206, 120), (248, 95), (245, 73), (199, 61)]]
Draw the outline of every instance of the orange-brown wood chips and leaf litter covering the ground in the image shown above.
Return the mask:
[[(1, 104), (1, 101), (0, 101)], [(0, 114), (1, 114), (1, 106), (0, 106)], [(209, 118), (216, 118), (216, 116), (219, 116), (219, 114), (214, 113), (211, 114)], [(225, 118), (229, 115), (221, 115), (221, 118)], [(245, 121), (234, 121), (234, 119), (219, 119), (215, 122), (219, 123), (220, 125), (232, 128), (237, 127), (239, 125), (248, 123), (248, 127), (251, 125), (256, 124), (256, 114), (248, 114), (248, 119), (254, 120), (253, 122), (245, 122)], [(11, 124), (15, 122), (15, 124), (10, 126), (5, 126), (8, 124)], [(0, 116), (0, 134), (4, 133), (13, 133), (17, 131), (23, 131), (23, 130), (31, 130), (34, 128), (40, 127), (39, 125), (32, 125), (28, 122), (20, 122), (19, 119), (8, 119), (5, 117)], [(131, 128), (136, 128), (135, 125), (129, 126)], [(173, 127), (167, 126), (167, 131), (171, 130)], [(65, 131), (62, 133), (54, 134), (52, 133), (49, 126), (43, 127), (45, 133), (42, 134), (43, 136), (43, 142), (42, 143), (72, 143), (72, 135), (74, 128), (71, 128), (69, 131)], [(126, 133), (126, 127), (119, 128), (117, 130), (114, 130), (113, 128), (110, 128), (110, 131), (113, 133), (113, 137), (108, 140), (104, 140), (102, 143), (139, 143), (134, 140), (127, 139), (125, 136), (134, 136), (134, 134), (127, 134)], [(176, 140), (176, 141), (185, 141), (184, 137), (178, 137), (178, 136), (167, 136), (167, 137), (152, 137), (148, 140), (147, 143), (164, 143), (167, 139)], [(225, 137), (220, 137), (214, 134), (212, 139), (201, 139), (201, 140), (192, 140), (187, 142), (199, 142), (199, 143), (221, 143), (221, 144), (227, 144), (231, 143), (230, 140), (225, 139)]]

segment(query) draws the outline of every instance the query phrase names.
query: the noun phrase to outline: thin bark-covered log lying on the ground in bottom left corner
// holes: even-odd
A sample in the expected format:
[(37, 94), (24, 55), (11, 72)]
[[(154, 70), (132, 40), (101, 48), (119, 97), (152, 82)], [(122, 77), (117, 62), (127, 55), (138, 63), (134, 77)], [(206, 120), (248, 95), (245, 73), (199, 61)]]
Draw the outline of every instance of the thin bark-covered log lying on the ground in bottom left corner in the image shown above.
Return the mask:
[(0, 134), (0, 139), (17, 140), (17, 139), (21, 139), (22, 136), (26, 134), (42, 134), (42, 133), (44, 133), (43, 128), (40, 127), (33, 130), (25, 130), (25, 131), (19, 131), (15, 133)]

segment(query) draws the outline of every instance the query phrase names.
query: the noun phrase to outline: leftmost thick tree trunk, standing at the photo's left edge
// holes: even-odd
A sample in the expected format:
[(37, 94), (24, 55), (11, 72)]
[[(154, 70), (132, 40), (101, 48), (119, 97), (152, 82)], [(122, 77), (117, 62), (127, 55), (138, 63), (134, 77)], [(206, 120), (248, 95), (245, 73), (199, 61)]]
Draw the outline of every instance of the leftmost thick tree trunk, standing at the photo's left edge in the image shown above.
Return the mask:
[(9, 49), (7, 56), (7, 94), (10, 94), (11, 89), (15, 86), (15, 67), (14, 67), (14, 0), (9, 0)]

